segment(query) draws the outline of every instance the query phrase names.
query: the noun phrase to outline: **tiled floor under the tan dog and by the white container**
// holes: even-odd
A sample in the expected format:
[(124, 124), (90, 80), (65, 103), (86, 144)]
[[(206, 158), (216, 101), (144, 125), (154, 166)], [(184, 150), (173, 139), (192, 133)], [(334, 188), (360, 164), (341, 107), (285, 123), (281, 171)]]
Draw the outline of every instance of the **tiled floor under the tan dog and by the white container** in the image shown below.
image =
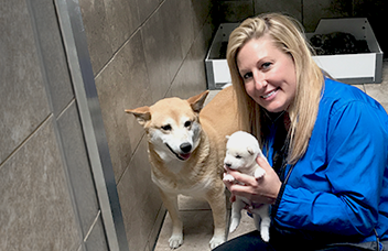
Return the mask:
[[(380, 102), (386, 111), (388, 111), (388, 61), (384, 62), (382, 66), (382, 83), (381, 84), (363, 84), (355, 85), (366, 94)], [(208, 100), (211, 100), (217, 90), (212, 90)], [(211, 250), (208, 242), (213, 236), (213, 217), (209, 206), (206, 201), (198, 201), (190, 197), (181, 196), (179, 198), (179, 207), (184, 225), (184, 243), (177, 251), (205, 251)], [(161, 232), (154, 251), (170, 251), (169, 238), (171, 234), (172, 225), (169, 214), (164, 219)], [(237, 230), (229, 234), (228, 239), (233, 239), (242, 233), (255, 230), (254, 221), (246, 214), (242, 214), (240, 226)]]

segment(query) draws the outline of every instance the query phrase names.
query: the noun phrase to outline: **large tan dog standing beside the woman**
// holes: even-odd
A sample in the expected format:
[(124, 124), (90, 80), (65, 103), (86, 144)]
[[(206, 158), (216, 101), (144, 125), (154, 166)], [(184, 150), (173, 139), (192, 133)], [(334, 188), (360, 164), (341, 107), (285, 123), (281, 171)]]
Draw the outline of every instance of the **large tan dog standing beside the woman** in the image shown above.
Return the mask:
[[(182, 100), (166, 98), (151, 107), (126, 110), (134, 114), (148, 135), (152, 181), (159, 186), (172, 219), (171, 248), (183, 243), (177, 195), (204, 198), (214, 219), (211, 248), (226, 240), (226, 198), (223, 183), (226, 135), (237, 131), (231, 87), (219, 91), (203, 108), (208, 91)], [(201, 113), (200, 113), (201, 111)]]

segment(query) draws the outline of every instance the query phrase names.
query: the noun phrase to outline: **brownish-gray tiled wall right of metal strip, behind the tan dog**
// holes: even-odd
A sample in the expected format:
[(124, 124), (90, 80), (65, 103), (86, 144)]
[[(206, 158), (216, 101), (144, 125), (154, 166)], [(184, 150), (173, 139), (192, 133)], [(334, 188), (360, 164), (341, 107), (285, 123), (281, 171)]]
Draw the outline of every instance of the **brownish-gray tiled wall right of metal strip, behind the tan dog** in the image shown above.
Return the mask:
[(152, 250), (165, 209), (143, 129), (126, 108), (206, 89), (211, 0), (80, 0), (130, 250)]

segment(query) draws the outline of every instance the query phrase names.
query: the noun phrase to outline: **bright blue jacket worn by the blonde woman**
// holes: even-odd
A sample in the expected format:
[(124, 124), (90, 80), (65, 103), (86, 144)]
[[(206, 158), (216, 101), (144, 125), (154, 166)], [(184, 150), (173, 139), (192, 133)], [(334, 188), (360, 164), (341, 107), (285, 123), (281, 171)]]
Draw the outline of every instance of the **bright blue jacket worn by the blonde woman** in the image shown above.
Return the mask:
[[(273, 138), (266, 141), (272, 165)], [(283, 189), (272, 219), (281, 227), (356, 236), (360, 242), (376, 241), (376, 229), (388, 240), (385, 109), (358, 88), (326, 79), (309, 148)]]

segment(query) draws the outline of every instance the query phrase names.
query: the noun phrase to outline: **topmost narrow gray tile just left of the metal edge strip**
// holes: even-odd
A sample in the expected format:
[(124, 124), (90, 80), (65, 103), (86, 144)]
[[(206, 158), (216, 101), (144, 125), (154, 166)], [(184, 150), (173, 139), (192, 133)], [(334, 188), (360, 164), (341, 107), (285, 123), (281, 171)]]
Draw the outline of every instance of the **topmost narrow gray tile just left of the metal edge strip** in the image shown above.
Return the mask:
[[(48, 81), (48, 91), (54, 114), (61, 111), (73, 99), (73, 87), (69, 79), (67, 58), (62, 43), (62, 35), (56, 20), (53, 1), (31, 0), (36, 24), (36, 36), (40, 42), (44, 72)], [(44, 14), (42, 14), (44, 13)]]

